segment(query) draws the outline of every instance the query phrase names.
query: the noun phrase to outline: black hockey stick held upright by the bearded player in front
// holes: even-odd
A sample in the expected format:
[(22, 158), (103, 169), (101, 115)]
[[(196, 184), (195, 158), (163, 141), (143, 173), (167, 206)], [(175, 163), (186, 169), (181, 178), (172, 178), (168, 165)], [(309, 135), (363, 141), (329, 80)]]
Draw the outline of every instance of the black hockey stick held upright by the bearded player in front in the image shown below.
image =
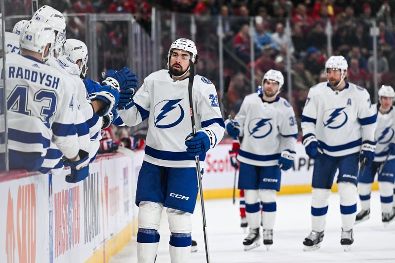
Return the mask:
[[(196, 136), (196, 124), (195, 124), (195, 113), (194, 113), (194, 102), (192, 100), (192, 86), (194, 85), (195, 78), (195, 65), (192, 60), (189, 60), (189, 81), (188, 81), (188, 95), (189, 95), (189, 111), (191, 113), (191, 121), (192, 121), (192, 133), (194, 137)], [(195, 155), (196, 161), (196, 174), (197, 174), (197, 182), (199, 184), (199, 196), (200, 196), (200, 205), (201, 205), (201, 218), (203, 221), (203, 235), (204, 235), (204, 248), (206, 250), (206, 262), (210, 263), (210, 254), (208, 251), (208, 238), (206, 232), (206, 214), (204, 210), (204, 200), (203, 200), (203, 189), (201, 188), (201, 174), (200, 174), (200, 161), (199, 156)]]

